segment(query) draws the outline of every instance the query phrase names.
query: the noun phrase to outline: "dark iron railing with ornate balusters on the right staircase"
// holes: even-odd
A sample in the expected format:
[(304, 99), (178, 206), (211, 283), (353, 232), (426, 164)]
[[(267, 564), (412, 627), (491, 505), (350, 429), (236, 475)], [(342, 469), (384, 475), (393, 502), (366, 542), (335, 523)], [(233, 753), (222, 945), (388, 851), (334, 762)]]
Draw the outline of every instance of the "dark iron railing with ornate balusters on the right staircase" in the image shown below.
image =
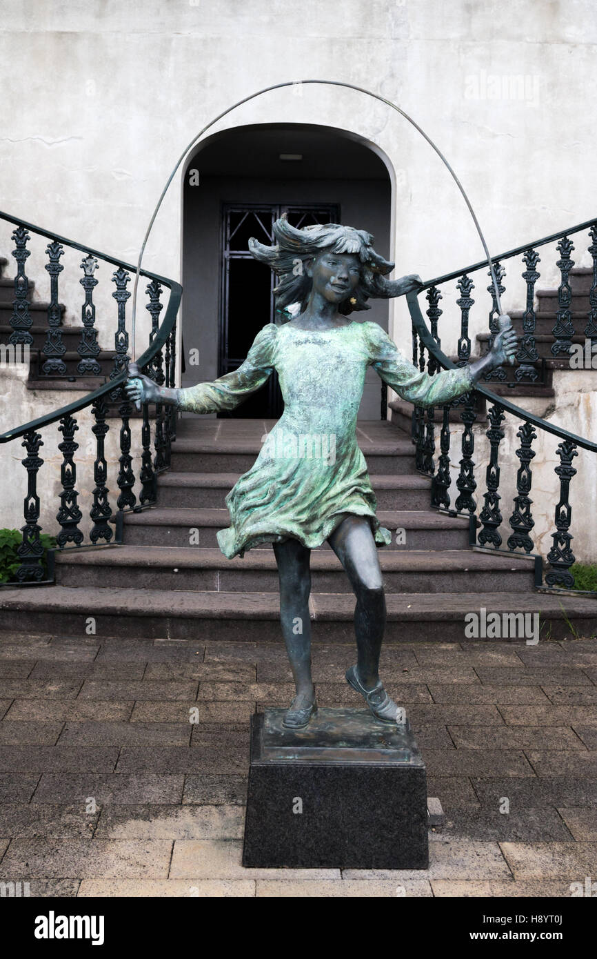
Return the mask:
[[(586, 286), (588, 286), (588, 281), (590, 281), (591, 285), (589, 290), (575, 292), (570, 284), (570, 271), (573, 267), (570, 254), (573, 244), (569, 238), (584, 231), (588, 231), (591, 241), (587, 249), (592, 257), (592, 269), (578, 270), (576, 275), (579, 276), (580, 283), (586, 281)], [(545, 297), (548, 305), (553, 307), (553, 310), (536, 311), (536, 284), (540, 276), (537, 270), (540, 259), (537, 247), (554, 243), (560, 253), (557, 267), (561, 272), (561, 283), (557, 291), (557, 297), (555, 292), (551, 295), (548, 291), (541, 294)], [(517, 257), (521, 257), (525, 268), (520, 272), (520, 276), (526, 286), (526, 304), (525, 310), (520, 312), (520, 316), (515, 312), (512, 314), (513, 317), (522, 320), (522, 335), (519, 339), (518, 365), (515, 368), (514, 381), (507, 383), (507, 371), (503, 367), (498, 367), (487, 375), (485, 380), (495, 380), (503, 385), (504, 395), (497, 395), (487, 386), (484, 386), (483, 381), (480, 381), (474, 390), (442, 408), (441, 424), (435, 422), (435, 409), (415, 407), (412, 411), (412, 440), (416, 449), (417, 469), (432, 478), (431, 505), (439, 510), (448, 511), (450, 515), (454, 516), (468, 514), (471, 517), (471, 545), (505, 552), (510, 555), (515, 553), (534, 555), (536, 560), (536, 586), (570, 589), (574, 587), (574, 576), (570, 572), (570, 568), (575, 563), (575, 556), (571, 548), (572, 509), (569, 502), (569, 489), (570, 482), (577, 473), (572, 461), (575, 456), (578, 456), (578, 448), (593, 454), (597, 453), (597, 443), (575, 433), (569, 433), (561, 427), (541, 419), (540, 416), (521, 409), (508, 400), (505, 394), (508, 386), (517, 387), (522, 384), (537, 386), (540, 379), (540, 367), (545, 369), (546, 366), (549, 367), (550, 365), (545, 357), (540, 358), (537, 349), (536, 323), (538, 316), (540, 316), (542, 322), (545, 315), (547, 317), (550, 313), (554, 315), (551, 317), (555, 318), (555, 322), (550, 335), (541, 335), (543, 349), (548, 346), (553, 358), (559, 357), (561, 354), (569, 358), (573, 339), (578, 340), (579, 334), (584, 335), (586, 343), (590, 343), (588, 352), (589, 355), (592, 354), (593, 344), (597, 343), (597, 221), (591, 220), (581, 223), (562, 233), (552, 234), (533, 244), (519, 246), (494, 257), (493, 263), (500, 284), (500, 294), (504, 292), (502, 285), (505, 275), (504, 263), (507, 261), (514, 262)], [(431, 280), (425, 283), (423, 291), (419, 293), (406, 294), (412, 320), (413, 363), (418, 365), (422, 371), (425, 370), (426, 365), (427, 371), (434, 375), (443, 368), (453, 369), (470, 361), (469, 323), (471, 307), (474, 302), (471, 297), (471, 290), (474, 286), (472, 277), (480, 270), (486, 270), (487, 267), (487, 261), (483, 261), (466, 269), (456, 270)], [(448, 284), (454, 283), (454, 281), (456, 289), (460, 292), (456, 302), (461, 312), (460, 336), (457, 349), (454, 351), (457, 354), (455, 362), (450, 360), (442, 351), (438, 334), (438, 320), (442, 314), (438, 304), (443, 296), (442, 289), (446, 290)], [(491, 295), (489, 338), (487, 339), (487, 348), (489, 349), (498, 328), (493, 284), (490, 283), (487, 290)], [(422, 295), (424, 291), (426, 291), (428, 303), (426, 310), (428, 326), (418, 299), (418, 296)], [(553, 302), (549, 303), (549, 299)], [(572, 309), (572, 307), (577, 306), (579, 300), (583, 299), (586, 299), (586, 309)], [(579, 326), (579, 320), (581, 326)], [(581, 352), (586, 355), (586, 350), (582, 349)], [(486, 431), (486, 435), (489, 439), (489, 461), (485, 474), (485, 486), (482, 491), (484, 504), (477, 517), (477, 503), (474, 494), (475, 492), (481, 492), (481, 489), (477, 491), (478, 478), (475, 478), (473, 426), (478, 418), (480, 399), (488, 405), (489, 429)], [(457, 490), (455, 498), (454, 491), (451, 488), (449, 429), (450, 412), (453, 417), (454, 408), (460, 409), (459, 418), (463, 425), (459, 454), (461, 457), (460, 469), (458, 477), (455, 479)], [(517, 494), (514, 498), (512, 515), (509, 518), (510, 534), (507, 535), (505, 546), (502, 546), (504, 536), (499, 530), (504, 525), (504, 517), (500, 510), (499, 444), (505, 435), (502, 424), (509, 415), (515, 417), (519, 423), (517, 429), (519, 447), (516, 450), (519, 467), (517, 469)], [(440, 426), (440, 435), (439, 455), (436, 461), (435, 431), (437, 426)], [(559, 479), (560, 495), (555, 507), (555, 531), (551, 534), (552, 546), (544, 557), (549, 564), (546, 573), (543, 570), (543, 557), (539, 552), (534, 552), (536, 544), (531, 537), (531, 532), (535, 526), (531, 511), (532, 500), (530, 499), (533, 479), (531, 463), (536, 456), (533, 443), (540, 433), (550, 434), (559, 441), (555, 451), (559, 464), (555, 467), (555, 472)]]

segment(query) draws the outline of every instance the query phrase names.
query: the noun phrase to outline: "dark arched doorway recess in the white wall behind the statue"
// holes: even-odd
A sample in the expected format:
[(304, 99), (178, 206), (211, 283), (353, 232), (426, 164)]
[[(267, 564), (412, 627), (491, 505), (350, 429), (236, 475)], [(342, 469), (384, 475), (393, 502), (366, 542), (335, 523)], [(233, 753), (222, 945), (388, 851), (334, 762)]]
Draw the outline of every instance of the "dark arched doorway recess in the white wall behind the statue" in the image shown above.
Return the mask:
[[(182, 385), (236, 369), (258, 331), (276, 315), (269, 269), (248, 239), (272, 242), (286, 211), (297, 226), (344, 222), (367, 229), (390, 255), (392, 189), (377, 152), (343, 130), (306, 124), (257, 124), (224, 130), (199, 145), (183, 179)], [(388, 328), (387, 301), (357, 318)], [(359, 411), (379, 418), (379, 378), (369, 371)], [(236, 417), (277, 418), (277, 380), (234, 410)]]

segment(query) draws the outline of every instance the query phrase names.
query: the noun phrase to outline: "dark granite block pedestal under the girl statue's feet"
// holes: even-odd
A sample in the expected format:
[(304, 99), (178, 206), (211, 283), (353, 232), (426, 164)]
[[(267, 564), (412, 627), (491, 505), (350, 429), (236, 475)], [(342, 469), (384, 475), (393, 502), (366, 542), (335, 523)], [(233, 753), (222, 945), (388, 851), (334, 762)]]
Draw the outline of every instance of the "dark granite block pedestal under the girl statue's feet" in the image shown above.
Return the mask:
[(285, 713), (251, 717), (242, 864), (426, 869), (425, 763), (408, 722), (320, 709), (294, 731)]

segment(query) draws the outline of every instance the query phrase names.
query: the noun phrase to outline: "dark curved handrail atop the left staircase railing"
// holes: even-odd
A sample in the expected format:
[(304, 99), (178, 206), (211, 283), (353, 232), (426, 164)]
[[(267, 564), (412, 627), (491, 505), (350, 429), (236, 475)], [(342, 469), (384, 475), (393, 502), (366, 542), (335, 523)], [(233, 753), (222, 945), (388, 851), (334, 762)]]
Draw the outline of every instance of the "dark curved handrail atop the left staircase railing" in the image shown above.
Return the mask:
[[(125, 263), (124, 260), (117, 260), (115, 257), (107, 256), (105, 253), (102, 253), (100, 250), (93, 249), (91, 246), (81, 245), (74, 240), (68, 240), (65, 237), (58, 236), (57, 233), (49, 232), (48, 230), (43, 230), (38, 226), (34, 226), (33, 223), (28, 223), (25, 220), (19, 220), (18, 217), (12, 217), (8, 213), (3, 213), (0, 211), (0, 219), (15, 223), (18, 226), (24, 226), (27, 230), (31, 230), (32, 233), (36, 233), (38, 236), (46, 237), (49, 240), (57, 240), (57, 242), (60, 244), (71, 246), (73, 249), (79, 249), (82, 253), (91, 254), (91, 256), (98, 257), (105, 263), (112, 264), (114, 267), (122, 267), (126, 269), (127, 272), (134, 273), (137, 269), (131, 264)], [(144, 366), (147, 366), (148, 363), (151, 362), (151, 360), (159, 352), (162, 346), (164, 346), (166, 340), (172, 333), (172, 327), (176, 320), (180, 299), (182, 297), (182, 287), (179, 283), (176, 283), (175, 280), (171, 280), (166, 276), (161, 276), (159, 273), (152, 273), (147, 269), (141, 270), (141, 273), (143, 276), (147, 276), (150, 280), (157, 280), (158, 283), (170, 290), (170, 299), (168, 301), (168, 306), (166, 307), (164, 319), (162, 320), (161, 325), (158, 327), (155, 337), (151, 340), (149, 347), (143, 356), (139, 357), (137, 365), (140, 369), (142, 369)], [(128, 373), (126, 370), (124, 370), (122, 373), (119, 373), (118, 376), (115, 376), (113, 380), (109, 380), (107, 383), (104, 383), (103, 386), (98, 386), (97, 389), (94, 389), (91, 393), (87, 393), (85, 396), (80, 397), (79, 400), (69, 403), (68, 406), (46, 413), (44, 416), (39, 416), (37, 419), (31, 420), (29, 423), (24, 423), (22, 426), (16, 427), (14, 430), (10, 430), (8, 433), (1, 433), (0, 443), (8, 443), (11, 441), (11, 439), (16, 439), (18, 436), (24, 435), (24, 433), (29, 433), (31, 430), (43, 429), (45, 426), (56, 423), (57, 420), (62, 419), (63, 416), (69, 416), (73, 413), (79, 412), (80, 409), (84, 409), (85, 407), (90, 406), (95, 400), (100, 399), (100, 397), (102, 397), (105, 393), (109, 393), (117, 386), (120, 386), (122, 383), (124, 383), (127, 376)]]

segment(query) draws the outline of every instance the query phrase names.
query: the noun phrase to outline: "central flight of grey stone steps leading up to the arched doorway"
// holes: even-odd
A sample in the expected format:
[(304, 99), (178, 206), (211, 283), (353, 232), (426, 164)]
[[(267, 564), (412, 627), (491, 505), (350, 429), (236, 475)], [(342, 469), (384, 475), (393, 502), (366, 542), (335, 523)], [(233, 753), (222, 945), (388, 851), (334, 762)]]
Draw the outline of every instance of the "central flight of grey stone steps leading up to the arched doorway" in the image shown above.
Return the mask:
[[(57, 553), (55, 586), (0, 589), (0, 628), (126, 640), (281, 642), (278, 581), (269, 545), (226, 559), (216, 546), (227, 526), (224, 497), (255, 460), (272, 422), (183, 417), (172, 471), (159, 478), (158, 504), (124, 516), (123, 544)], [(409, 436), (393, 423), (359, 422), (357, 438), (379, 498), (379, 520), (403, 529), (379, 550), (387, 590), (387, 642), (463, 642), (464, 616), (540, 612), (541, 638), (597, 631), (586, 597), (534, 592), (523, 556), (469, 547), (469, 521), (428, 508), (429, 480), (415, 470)], [(190, 535), (198, 530), (198, 545)], [(196, 538), (196, 533), (194, 533)], [(401, 537), (402, 539), (402, 537)], [(333, 551), (311, 553), (315, 642), (352, 642), (354, 599)], [(18, 611), (18, 616), (15, 616)]]

